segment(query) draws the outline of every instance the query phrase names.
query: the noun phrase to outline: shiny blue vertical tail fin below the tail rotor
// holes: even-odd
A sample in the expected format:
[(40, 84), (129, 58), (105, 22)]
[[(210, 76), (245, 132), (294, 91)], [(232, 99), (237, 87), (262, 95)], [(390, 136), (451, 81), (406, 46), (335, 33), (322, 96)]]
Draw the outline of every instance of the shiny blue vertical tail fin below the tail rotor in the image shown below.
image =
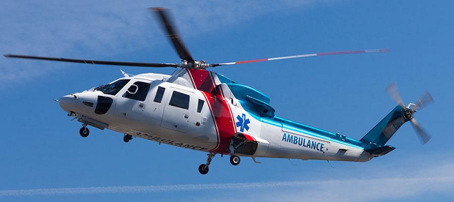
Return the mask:
[(373, 143), (375, 147), (383, 146), (407, 121), (409, 121), (409, 119), (405, 118), (404, 108), (398, 105), (372, 128), (372, 130), (364, 135), (360, 141), (363, 142), (365, 146), (370, 143)]

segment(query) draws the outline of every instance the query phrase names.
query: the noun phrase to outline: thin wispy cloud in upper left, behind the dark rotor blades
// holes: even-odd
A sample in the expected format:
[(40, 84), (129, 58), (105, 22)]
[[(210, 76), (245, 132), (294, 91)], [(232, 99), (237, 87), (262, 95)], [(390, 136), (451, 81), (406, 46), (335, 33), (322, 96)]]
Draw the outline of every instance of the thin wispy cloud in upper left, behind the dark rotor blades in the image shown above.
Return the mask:
[[(0, 52), (96, 59), (137, 51), (162, 41), (148, 7), (171, 8), (182, 33), (190, 37), (274, 11), (333, 2), (337, 1), (4, 1)], [(0, 82), (33, 79), (62, 66), (42, 64), (1, 57)]]

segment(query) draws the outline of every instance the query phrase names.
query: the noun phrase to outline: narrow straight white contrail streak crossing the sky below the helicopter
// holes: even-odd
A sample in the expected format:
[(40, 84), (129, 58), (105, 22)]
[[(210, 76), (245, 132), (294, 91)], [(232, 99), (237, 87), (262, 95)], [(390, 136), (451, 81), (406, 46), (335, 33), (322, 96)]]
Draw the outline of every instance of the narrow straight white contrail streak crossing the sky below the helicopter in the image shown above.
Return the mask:
[(338, 185), (342, 183), (420, 183), (420, 182), (449, 182), (454, 183), (454, 177), (428, 178), (384, 178), (384, 179), (347, 179), (347, 180), (319, 180), (319, 181), (271, 181), (249, 183), (216, 183), (216, 184), (177, 184), (156, 186), (100, 186), (100, 187), (73, 187), (73, 188), (43, 188), (0, 190), (0, 196), (25, 195), (62, 195), (62, 194), (96, 194), (122, 192), (167, 192), (192, 190), (232, 190), (257, 189), (274, 187), (303, 187), (308, 185)]

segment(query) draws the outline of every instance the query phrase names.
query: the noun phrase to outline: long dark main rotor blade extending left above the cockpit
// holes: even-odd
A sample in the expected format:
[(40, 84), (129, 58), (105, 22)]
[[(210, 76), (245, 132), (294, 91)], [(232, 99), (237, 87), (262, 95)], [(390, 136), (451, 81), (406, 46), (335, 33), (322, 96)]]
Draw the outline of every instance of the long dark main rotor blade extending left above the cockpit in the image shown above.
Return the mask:
[(94, 65), (117, 65), (117, 66), (133, 66), (133, 67), (178, 67), (176, 63), (134, 63), (134, 62), (115, 62), (115, 61), (99, 61), (99, 60), (81, 60), (81, 59), (67, 59), (67, 58), (49, 58), (38, 56), (23, 56), (23, 55), (3, 55), (6, 58), (21, 58), (33, 60), (48, 60), (48, 61), (61, 61), (70, 63), (84, 63)]

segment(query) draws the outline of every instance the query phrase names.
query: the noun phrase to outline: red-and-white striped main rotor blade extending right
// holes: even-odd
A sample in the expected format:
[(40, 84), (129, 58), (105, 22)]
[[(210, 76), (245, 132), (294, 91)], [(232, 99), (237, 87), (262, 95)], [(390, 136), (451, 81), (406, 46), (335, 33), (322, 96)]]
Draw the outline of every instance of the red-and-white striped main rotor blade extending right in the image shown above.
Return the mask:
[(240, 61), (240, 62), (231, 62), (231, 63), (218, 63), (218, 64), (211, 64), (211, 67), (221, 66), (221, 65), (237, 65), (243, 63), (255, 63), (255, 62), (262, 62), (262, 61), (272, 61), (272, 60), (283, 60), (283, 59), (293, 59), (293, 58), (305, 58), (305, 57), (314, 57), (314, 56), (329, 56), (329, 55), (345, 55), (345, 54), (370, 54), (370, 53), (387, 53), (389, 49), (367, 49), (367, 50), (357, 50), (357, 51), (339, 51), (339, 52), (327, 52), (327, 53), (318, 53), (318, 54), (304, 54), (304, 55), (296, 55), (296, 56), (286, 56), (286, 57), (279, 57), (279, 58), (266, 58), (266, 59), (259, 59), (259, 60), (247, 60), (247, 61)]

